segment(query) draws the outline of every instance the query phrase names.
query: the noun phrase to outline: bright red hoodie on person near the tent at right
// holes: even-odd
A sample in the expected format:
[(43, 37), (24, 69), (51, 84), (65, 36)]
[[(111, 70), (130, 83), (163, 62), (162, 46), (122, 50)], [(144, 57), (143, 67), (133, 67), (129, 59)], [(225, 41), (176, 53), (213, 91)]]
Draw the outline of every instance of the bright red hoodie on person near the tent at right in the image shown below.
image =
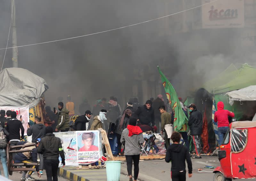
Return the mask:
[(214, 122), (218, 122), (218, 128), (229, 126), (228, 116), (235, 117), (235, 114), (229, 110), (224, 110), (224, 103), (221, 101), (218, 102), (217, 108), (218, 110), (214, 114)]

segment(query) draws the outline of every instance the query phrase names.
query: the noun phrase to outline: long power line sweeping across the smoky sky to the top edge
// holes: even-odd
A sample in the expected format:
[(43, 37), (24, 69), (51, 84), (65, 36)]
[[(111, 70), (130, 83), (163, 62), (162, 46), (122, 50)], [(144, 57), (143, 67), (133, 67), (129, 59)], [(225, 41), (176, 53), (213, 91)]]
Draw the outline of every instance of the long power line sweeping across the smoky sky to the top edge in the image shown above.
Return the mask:
[[(200, 6), (196, 6), (196, 7), (187, 9), (187, 10), (183, 10), (183, 11), (180, 11), (180, 12), (176, 12), (176, 13), (173, 13), (173, 14), (169, 14), (169, 15), (167, 15), (167, 16), (163, 16), (163, 17), (160, 17), (160, 18), (151, 19), (151, 20), (148, 20), (148, 21), (143, 21), (143, 22), (140, 22), (140, 23), (136, 23), (136, 24), (132, 24), (132, 25), (128, 25), (128, 26), (123, 26), (123, 27), (119, 27), (119, 28), (115, 28), (115, 29), (110, 29), (110, 30), (101, 31), (101, 32), (97, 32), (97, 33), (85, 34), (85, 35), (82, 35), (82, 36), (75, 36), (75, 37), (65, 38), (65, 39), (60, 39), (60, 40), (46, 41), (46, 42), (35, 43), (35, 44), (28, 44), (28, 45), (21, 45), (21, 46), (16, 46), (16, 47), (9, 47), (9, 48), (7, 48), (7, 49), (20, 48), (20, 47), (27, 47), (27, 46), (32, 46), (32, 45), (44, 44), (44, 43), (52, 43), (52, 42), (56, 42), (56, 41), (64, 41), (64, 40), (70, 40), (70, 39), (74, 39), (74, 38), (81, 38), (81, 37), (85, 37), (85, 36), (90, 36), (90, 35), (94, 35), (94, 34), (106, 33), (106, 32), (109, 32), (109, 31), (114, 31), (114, 30), (118, 30), (118, 29), (122, 29), (122, 28), (127, 28), (127, 27), (131, 27), (131, 26), (135, 26), (135, 25), (140, 25), (140, 24), (143, 24), (143, 23), (147, 23), (147, 22), (150, 22), (150, 21), (157, 20), (157, 19), (166, 18), (166, 17), (172, 16), (172, 15), (175, 15), (175, 14), (179, 14), (179, 13), (181, 13), (181, 12), (189, 11), (189, 10), (192, 10), (192, 9), (195, 9), (195, 8), (198, 8), (198, 7), (207, 5), (207, 4), (214, 3), (214, 2), (216, 2), (216, 1), (218, 1), (218, 0), (215, 0), (215, 1), (212, 1), (212, 2), (209, 2), (209, 3), (206, 3), (206, 4), (202, 4), (202, 5), (200, 5)], [(2, 49), (5, 49), (5, 48), (2, 48)], [(0, 49), (0, 50), (2, 50), (2, 49)]]

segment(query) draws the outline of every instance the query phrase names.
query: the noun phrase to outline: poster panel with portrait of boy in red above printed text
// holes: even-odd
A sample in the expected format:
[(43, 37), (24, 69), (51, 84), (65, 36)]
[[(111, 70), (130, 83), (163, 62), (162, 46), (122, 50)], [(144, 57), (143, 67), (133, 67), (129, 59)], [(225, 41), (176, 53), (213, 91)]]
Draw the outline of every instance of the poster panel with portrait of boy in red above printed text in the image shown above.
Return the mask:
[(77, 162), (95, 162), (100, 159), (99, 131), (77, 131)]

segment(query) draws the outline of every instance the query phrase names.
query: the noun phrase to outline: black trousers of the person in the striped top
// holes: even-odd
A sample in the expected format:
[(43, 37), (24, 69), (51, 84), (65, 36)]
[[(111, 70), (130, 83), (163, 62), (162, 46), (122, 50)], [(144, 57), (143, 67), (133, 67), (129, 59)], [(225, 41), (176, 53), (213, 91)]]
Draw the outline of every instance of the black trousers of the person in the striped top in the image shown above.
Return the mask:
[(132, 161), (134, 165), (134, 180), (137, 180), (139, 175), (140, 155), (125, 155), (128, 175), (132, 175)]

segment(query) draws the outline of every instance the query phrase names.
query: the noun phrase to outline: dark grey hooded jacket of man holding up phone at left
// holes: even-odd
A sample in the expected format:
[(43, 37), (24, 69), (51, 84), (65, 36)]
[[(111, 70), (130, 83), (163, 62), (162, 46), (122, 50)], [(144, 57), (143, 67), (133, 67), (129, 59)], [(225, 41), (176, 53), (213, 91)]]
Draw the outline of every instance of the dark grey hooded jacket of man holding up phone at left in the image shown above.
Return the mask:
[(27, 130), (27, 135), (32, 135), (32, 142), (35, 143), (37, 138), (44, 138), (45, 136), (45, 125), (44, 124), (34, 124)]

